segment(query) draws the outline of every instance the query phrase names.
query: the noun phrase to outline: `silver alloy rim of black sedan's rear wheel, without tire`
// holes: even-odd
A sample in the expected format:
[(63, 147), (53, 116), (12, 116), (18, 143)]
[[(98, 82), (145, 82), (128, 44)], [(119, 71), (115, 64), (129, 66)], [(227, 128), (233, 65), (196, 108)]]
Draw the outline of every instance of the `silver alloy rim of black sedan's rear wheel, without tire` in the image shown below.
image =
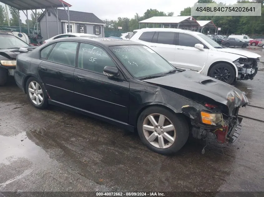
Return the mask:
[(41, 105), (43, 101), (43, 92), (42, 92), (40, 85), (37, 82), (32, 81), (29, 83), (28, 94), (29, 94), (31, 101), (34, 104)]

